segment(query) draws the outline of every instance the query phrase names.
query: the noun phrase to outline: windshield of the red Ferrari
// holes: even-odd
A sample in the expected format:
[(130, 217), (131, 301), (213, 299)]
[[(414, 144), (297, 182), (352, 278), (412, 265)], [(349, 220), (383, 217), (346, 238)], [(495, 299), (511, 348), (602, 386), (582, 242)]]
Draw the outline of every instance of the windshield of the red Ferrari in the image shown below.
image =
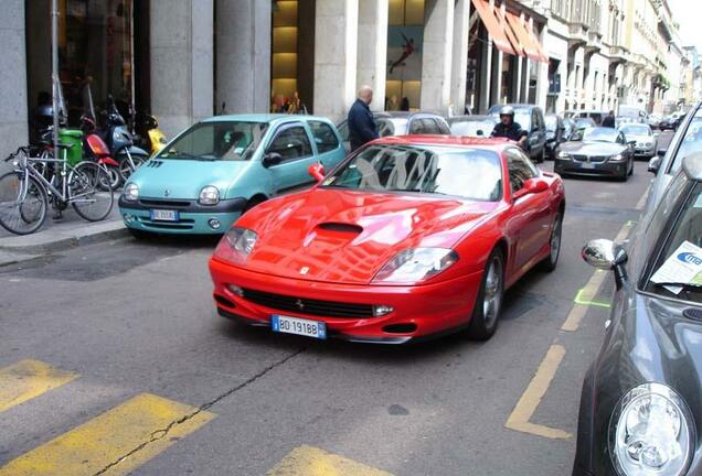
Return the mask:
[(349, 159), (322, 186), (497, 202), (502, 197), (502, 170), (500, 158), (492, 151), (377, 144)]

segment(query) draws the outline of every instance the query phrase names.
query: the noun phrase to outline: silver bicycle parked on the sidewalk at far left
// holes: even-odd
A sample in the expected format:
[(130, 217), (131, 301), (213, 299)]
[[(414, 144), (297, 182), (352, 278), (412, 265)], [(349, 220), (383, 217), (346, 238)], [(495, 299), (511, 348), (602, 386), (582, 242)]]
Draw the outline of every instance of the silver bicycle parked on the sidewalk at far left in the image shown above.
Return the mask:
[(49, 204), (61, 214), (68, 205), (88, 221), (105, 219), (115, 202), (107, 170), (95, 162), (71, 165), (68, 145), (59, 145), (64, 159), (31, 156), (19, 148), (6, 159), (13, 171), (0, 176), (0, 225), (15, 235), (36, 231), (46, 219)]

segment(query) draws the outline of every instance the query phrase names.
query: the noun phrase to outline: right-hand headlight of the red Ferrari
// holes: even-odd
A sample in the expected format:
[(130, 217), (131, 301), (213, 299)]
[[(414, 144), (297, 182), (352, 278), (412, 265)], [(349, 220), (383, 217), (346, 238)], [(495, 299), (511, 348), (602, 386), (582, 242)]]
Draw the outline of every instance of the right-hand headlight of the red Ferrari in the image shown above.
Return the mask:
[(447, 248), (410, 248), (395, 255), (373, 278), (374, 282), (417, 283), (437, 275), (458, 261)]

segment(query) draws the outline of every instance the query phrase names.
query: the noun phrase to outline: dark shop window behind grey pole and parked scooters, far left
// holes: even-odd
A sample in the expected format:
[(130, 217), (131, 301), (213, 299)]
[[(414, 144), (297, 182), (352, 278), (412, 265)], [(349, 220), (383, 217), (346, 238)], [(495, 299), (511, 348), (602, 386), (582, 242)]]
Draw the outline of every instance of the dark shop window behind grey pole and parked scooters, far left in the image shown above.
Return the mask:
[[(51, 15), (49, 2), (26, 1), (29, 107), (51, 93)], [(99, 116), (111, 95), (125, 119), (134, 109), (134, 46), (148, 50), (135, 31), (132, 0), (62, 0), (59, 2), (59, 68), (68, 122), (82, 113)], [(46, 58), (46, 61), (39, 61)], [(88, 96), (88, 90), (92, 96)], [(91, 104), (93, 108), (91, 108)], [(92, 109), (92, 110), (91, 110)]]

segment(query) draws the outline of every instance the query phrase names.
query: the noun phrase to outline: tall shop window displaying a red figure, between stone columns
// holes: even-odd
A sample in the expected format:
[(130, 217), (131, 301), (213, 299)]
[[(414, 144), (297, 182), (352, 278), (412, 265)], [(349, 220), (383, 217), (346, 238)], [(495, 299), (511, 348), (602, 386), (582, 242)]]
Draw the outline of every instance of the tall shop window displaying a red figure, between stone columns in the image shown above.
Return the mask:
[(387, 13), (385, 109), (417, 109), (422, 94), (424, 0), (390, 0)]

